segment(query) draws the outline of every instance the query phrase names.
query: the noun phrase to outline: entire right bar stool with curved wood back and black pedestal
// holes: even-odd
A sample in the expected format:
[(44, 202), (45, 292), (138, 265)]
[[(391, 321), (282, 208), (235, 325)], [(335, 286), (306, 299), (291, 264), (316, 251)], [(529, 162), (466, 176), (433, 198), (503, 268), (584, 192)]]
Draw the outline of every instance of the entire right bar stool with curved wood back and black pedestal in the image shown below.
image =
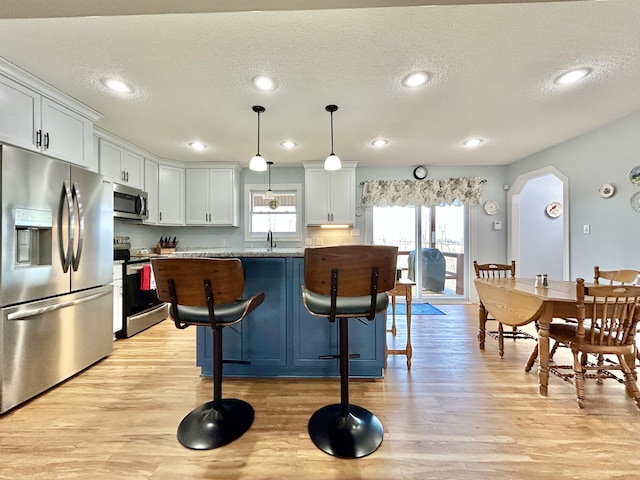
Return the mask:
[[(313, 443), (325, 453), (360, 458), (382, 443), (380, 420), (349, 403), (349, 318), (374, 320), (389, 303), (385, 292), (396, 281), (397, 247), (349, 245), (307, 248), (302, 298), (312, 315), (339, 319), (340, 403), (327, 405), (309, 419)], [(353, 358), (353, 356), (351, 356)]]

